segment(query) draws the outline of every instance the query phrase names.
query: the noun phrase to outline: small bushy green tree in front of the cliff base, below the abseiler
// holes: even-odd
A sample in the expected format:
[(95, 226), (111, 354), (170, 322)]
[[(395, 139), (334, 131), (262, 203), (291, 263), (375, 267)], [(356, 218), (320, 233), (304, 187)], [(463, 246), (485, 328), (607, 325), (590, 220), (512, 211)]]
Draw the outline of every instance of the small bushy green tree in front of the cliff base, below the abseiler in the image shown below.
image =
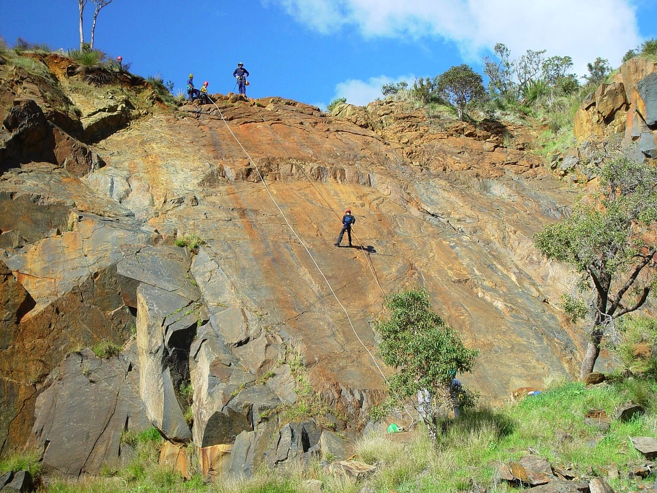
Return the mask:
[[(380, 335), (380, 356), (396, 372), (388, 379), (390, 396), (397, 404), (428, 390), (436, 404), (451, 402), (449, 387), (454, 372), (469, 373), (477, 350), (464, 346), (459, 333), (431, 309), (429, 295), (411, 290), (386, 296), (387, 314), (374, 325)], [(472, 404), (473, 394), (463, 389), (461, 402)], [(436, 439), (438, 406), (422, 418), (432, 439)]]

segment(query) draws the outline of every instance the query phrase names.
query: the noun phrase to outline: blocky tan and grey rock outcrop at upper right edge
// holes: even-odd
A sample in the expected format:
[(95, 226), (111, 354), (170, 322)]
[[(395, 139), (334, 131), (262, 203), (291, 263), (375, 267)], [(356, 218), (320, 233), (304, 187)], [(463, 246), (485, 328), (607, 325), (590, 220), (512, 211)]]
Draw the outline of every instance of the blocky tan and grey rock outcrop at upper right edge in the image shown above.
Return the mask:
[(635, 57), (620, 66), (614, 83), (603, 83), (578, 109), (574, 133), (579, 142), (622, 134), (637, 156), (657, 158), (657, 62)]

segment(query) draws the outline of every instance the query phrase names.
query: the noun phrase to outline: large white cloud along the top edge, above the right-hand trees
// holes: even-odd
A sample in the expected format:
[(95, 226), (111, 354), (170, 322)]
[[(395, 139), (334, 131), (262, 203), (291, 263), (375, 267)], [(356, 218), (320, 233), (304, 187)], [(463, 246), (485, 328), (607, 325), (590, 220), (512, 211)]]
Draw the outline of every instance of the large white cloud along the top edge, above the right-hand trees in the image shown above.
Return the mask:
[(275, 0), (329, 34), (355, 25), (365, 37), (454, 41), (477, 61), (497, 42), (513, 58), (526, 49), (570, 55), (579, 74), (596, 57), (620, 64), (641, 41), (631, 0)]

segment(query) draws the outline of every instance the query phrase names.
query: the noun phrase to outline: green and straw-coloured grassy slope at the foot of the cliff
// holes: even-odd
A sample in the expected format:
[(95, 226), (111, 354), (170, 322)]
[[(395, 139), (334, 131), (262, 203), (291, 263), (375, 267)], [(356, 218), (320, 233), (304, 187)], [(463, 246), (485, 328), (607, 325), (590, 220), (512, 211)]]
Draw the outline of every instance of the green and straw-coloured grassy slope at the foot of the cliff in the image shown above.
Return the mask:
[[(502, 408), (482, 406), (465, 412), (461, 419), (445, 427), (437, 450), (432, 450), (422, 430), (394, 437), (369, 436), (357, 445), (357, 456), (378, 465), (378, 469), (359, 483), (327, 473), (319, 463), (306, 471), (298, 467), (283, 472), (263, 468), (250, 480), (225, 479), (210, 485), (196, 474), (191, 481), (183, 482), (176, 473), (158, 467), (158, 436), (145, 433), (133, 440), (135, 456), (125, 469), (108, 471), (106, 477), (82, 482), (57, 480), (44, 490), (58, 493), (303, 492), (304, 480), (319, 479), (327, 492), (357, 493), (365, 487), (382, 493), (484, 491), (484, 488), (487, 492), (499, 492), (512, 489), (499, 481), (499, 463), (518, 459), (532, 448), (553, 466), (572, 466), (583, 479), (595, 475), (606, 477), (610, 466), (617, 467), (620, 479), (611, 480), (610, 484), (616, 492), (631, 492), (654, 481), (652, 477), (627, 479), (627, 473), (631, 466), (645, 463), (628, 436), (657, 435), (655, 392), (657, 383), (649, 379), (618, 379), (589, 388), (581, 383), (560, 383), (539, 396)], [(600, 409), (613, 416), (614, 410), (628, 400), (643, 402), (648, 412), (628, 423), (612, 421), (606, 433), (584, 424), (587, 411)], [(399, 438), (407, 440), (403, 442)], [(32, 456), (31, 467), (36, 471), (34, 459)], [(0, 471), (16, 467), (26, 467), (24, 459), (13, 457), (3, 461)]]

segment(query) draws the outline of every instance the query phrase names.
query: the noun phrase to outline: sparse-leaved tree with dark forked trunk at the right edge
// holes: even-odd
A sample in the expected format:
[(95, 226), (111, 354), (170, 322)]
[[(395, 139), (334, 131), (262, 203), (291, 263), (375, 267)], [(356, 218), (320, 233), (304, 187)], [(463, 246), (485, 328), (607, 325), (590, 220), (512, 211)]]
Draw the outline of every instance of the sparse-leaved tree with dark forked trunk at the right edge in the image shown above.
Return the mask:
[(570, 218), (534, 236), (549, 258), (582, 274), (581, 292), (592, 291), (588, 305), (581, 298), (564, 304), (571, 319), (587, 312), (592, 316), (581, 379), (593, 371), (614, 320), (641, 308), (657, 287), (657, 169), (613, 149), (595, 172), (599, 191), (578, 204)]

